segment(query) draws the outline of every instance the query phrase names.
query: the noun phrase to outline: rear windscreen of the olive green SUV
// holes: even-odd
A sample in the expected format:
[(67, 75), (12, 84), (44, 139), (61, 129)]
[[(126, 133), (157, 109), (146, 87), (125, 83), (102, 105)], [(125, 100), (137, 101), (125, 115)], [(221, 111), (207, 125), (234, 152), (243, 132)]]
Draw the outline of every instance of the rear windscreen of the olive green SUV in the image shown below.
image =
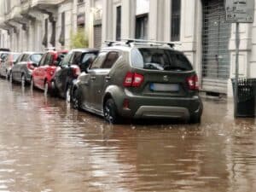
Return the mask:
[(133, 67), (160, 71), (191, 71), (189, 60), (185, 55), (171, 49), (139, 48), (132, 49)]

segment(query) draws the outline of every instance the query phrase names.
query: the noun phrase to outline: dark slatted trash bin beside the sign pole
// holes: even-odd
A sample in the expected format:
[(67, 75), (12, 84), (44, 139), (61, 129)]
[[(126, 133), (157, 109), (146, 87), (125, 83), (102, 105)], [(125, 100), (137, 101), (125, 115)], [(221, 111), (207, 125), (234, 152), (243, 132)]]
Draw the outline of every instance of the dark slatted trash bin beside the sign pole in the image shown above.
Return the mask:
[[(235, 96), (235, 79), (232, 80)], [(255, 116), (256, 79), (238, 79), (237, 117)]]

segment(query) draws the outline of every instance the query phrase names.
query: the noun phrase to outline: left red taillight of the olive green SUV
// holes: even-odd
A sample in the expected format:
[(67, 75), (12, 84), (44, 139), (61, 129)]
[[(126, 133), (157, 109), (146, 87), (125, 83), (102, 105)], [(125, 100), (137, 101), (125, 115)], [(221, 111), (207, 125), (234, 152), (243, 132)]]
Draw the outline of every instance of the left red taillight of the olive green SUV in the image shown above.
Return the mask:
[(143, 84), (144, 77), (142, 74), (128, 72), (125, 75), (124, 86), (125, 87), (139, 87)]

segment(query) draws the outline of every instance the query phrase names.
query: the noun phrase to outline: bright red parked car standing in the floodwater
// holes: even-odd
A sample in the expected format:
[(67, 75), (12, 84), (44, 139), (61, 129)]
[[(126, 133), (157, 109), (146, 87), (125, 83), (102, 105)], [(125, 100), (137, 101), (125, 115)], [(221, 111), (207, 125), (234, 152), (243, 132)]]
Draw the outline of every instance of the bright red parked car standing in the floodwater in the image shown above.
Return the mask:
[(32, 87), (44, 90), (44, 93), (50, 90), (51, 80), (55, 74), (56, 67), (61, 61), (61, 55), (66, 55), (67, 50), (55, 51), (49, 50), (42, 56), (38, 67), (32, 72)]

